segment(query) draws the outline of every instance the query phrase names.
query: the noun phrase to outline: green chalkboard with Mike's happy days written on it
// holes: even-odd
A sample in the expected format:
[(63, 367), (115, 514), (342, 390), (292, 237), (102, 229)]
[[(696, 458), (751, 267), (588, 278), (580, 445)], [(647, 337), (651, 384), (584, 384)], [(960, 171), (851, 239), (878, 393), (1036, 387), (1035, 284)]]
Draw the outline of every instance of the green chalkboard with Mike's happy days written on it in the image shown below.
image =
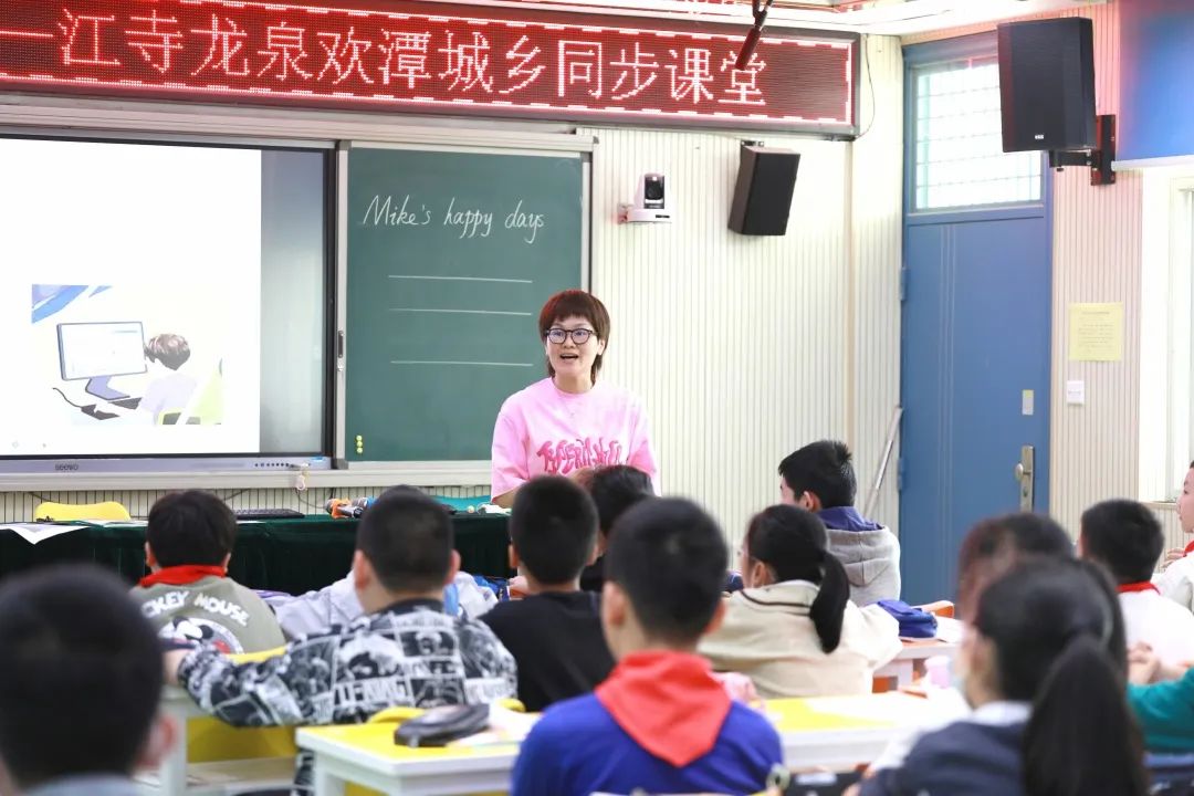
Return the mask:
[(345, 455), (490, 458), (546, 375), (538, 310), (580, 286), (578, 156), (349, 150)]

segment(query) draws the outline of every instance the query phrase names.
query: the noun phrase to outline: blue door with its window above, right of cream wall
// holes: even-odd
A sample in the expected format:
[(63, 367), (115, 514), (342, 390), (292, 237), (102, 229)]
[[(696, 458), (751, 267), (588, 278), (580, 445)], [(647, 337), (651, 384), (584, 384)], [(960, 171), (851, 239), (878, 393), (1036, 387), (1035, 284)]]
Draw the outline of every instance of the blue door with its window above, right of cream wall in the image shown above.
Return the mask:
[(1021, 506), (1026, 448), (1033, 506), (1048, 507), (1047, 174), (1036, 153), (1001, 152), (993, 53), (989, 37), (905, 51), (898, 477), (911, 603), (955, 598), (966, 531)]

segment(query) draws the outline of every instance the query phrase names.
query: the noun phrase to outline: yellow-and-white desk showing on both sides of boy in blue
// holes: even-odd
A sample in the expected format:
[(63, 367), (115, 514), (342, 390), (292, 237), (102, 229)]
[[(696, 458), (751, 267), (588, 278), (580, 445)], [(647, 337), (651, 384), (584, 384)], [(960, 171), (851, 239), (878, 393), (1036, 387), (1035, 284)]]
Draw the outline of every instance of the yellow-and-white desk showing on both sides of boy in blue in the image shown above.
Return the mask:
[[(931, 703), (905, 693), (774, 699), (767, 714), (793, 769), (867, 763)], [(295, 738), (315, 754), (315, 796), (343, 796), (355, 783), (389, 796), (458, 796), (506, 791), (518, 757), (515, 743), (479, 748), (411, 749), (394, 745), (393, 724), (307, 727)]]

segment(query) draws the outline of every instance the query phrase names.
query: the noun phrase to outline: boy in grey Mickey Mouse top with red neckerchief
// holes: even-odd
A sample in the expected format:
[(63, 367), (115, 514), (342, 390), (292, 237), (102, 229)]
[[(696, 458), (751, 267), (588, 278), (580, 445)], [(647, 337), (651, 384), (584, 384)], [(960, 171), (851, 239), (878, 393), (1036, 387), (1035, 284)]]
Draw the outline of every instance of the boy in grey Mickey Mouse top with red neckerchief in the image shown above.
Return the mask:
[(236, 518), (207, 492), (176, 492), (149, 510), (146, 563), (133, 590), (146, 618), (166, 638), (256, 653), (285, 643), (270, 607), (228, 578)]

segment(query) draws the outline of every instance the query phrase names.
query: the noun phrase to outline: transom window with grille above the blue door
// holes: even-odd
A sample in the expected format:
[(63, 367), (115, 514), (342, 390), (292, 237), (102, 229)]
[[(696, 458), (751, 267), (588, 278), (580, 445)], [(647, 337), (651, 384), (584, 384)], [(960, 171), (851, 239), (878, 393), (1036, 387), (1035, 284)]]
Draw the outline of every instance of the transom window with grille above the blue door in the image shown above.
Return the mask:
[(993, 56), (912, 70), (912, 210), (1041, 199), (1041, 154), (1003, 152)]

